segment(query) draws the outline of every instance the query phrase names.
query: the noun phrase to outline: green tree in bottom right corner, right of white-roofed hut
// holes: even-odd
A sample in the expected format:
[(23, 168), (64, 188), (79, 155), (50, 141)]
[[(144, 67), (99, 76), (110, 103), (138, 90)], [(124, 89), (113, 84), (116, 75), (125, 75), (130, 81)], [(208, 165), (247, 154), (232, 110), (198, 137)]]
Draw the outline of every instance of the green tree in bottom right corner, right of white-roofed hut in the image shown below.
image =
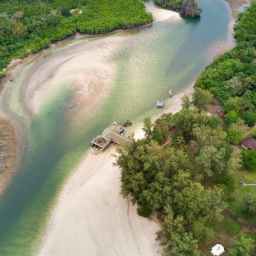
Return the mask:
[(234, 241), (234, 246), (229, 250), (230, 256), (251, 256), (251, 250), (254, 247), (254, 240), (250, 237), (246, 238), (241, 234), (239, 240)]

